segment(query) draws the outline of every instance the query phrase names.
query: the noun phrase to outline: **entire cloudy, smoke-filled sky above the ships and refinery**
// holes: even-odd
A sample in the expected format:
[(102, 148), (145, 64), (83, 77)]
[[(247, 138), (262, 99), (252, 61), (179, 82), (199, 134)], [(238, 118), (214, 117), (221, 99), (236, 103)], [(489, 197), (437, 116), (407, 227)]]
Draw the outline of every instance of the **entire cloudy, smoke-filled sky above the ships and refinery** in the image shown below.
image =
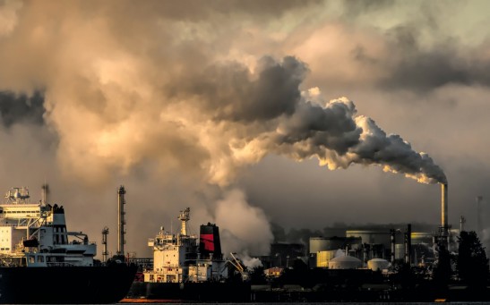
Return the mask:
[(267, 253), (272, 223), (435, 229), (439, 182), (450, 225), (475, 229), (489, 6), (0, 0), (0, 185), (38, 200), (48, 182), (68, 230), (100, 243), (107, 225), (113, 252), (125, 185), (139, 257), (187, 207), (244, 255)]

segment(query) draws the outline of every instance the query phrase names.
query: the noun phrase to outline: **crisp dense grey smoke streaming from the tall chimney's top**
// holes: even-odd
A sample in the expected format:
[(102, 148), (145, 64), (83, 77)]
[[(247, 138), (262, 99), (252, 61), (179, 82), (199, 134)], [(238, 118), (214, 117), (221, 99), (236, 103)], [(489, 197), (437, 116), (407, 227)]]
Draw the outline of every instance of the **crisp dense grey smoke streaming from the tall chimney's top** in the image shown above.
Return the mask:
[(445, 182), (443, 170), (425, 153), (413, 150), (399, 135), (387, 135), (372, 119), (356, 116), (347, 97), (324, 106), (305, 102), (279, 125), (275, 150), (297, 159), (317, 157), (329, 169), (352, 164), (381, 165), (418, 182)]

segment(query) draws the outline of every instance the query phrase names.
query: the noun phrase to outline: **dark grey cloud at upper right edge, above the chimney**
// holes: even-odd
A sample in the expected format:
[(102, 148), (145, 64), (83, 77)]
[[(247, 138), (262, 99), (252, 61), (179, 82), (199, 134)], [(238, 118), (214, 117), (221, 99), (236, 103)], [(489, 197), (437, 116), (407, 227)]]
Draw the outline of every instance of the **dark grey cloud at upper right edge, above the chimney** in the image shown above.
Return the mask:
[[(413, 27), (397, 27), (389, 32), (395, 59), (387, 67), (389, 72), (381, 80), (386, 89), (411, 89), (426, 92), (456, 84), (490, 86), (490, 58), (478, 55), (484, 50), (458, 49), (458, 39), (447, 38), (435, 47), (425, 49), (418, 42), (419, 34)], [(386, 64), (386, 62), (384, 63)]]

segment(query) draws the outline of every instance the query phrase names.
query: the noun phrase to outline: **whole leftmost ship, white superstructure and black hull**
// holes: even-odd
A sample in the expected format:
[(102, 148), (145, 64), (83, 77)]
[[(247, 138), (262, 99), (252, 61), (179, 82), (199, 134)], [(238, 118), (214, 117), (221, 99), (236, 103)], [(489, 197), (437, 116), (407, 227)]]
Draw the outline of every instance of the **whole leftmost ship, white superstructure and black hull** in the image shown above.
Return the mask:
[(94, 259), (95, 242), (67, 231), (63, 206), (31, 203), (13, 188), (0, 204), (0, 303), (114, 303), (128, 292), (136, 266)]

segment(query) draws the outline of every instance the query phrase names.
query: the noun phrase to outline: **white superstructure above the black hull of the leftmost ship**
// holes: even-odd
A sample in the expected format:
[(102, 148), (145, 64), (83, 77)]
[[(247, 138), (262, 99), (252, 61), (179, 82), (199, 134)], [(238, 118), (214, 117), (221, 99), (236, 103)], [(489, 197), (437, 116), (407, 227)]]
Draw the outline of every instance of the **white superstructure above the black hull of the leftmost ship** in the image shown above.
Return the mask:
[(30, 203), (29, 190), (13, 188), (0, 204), (0, 266), (92, 266), (97, 247), (82, 232), (68, 232), (64, 208)]

